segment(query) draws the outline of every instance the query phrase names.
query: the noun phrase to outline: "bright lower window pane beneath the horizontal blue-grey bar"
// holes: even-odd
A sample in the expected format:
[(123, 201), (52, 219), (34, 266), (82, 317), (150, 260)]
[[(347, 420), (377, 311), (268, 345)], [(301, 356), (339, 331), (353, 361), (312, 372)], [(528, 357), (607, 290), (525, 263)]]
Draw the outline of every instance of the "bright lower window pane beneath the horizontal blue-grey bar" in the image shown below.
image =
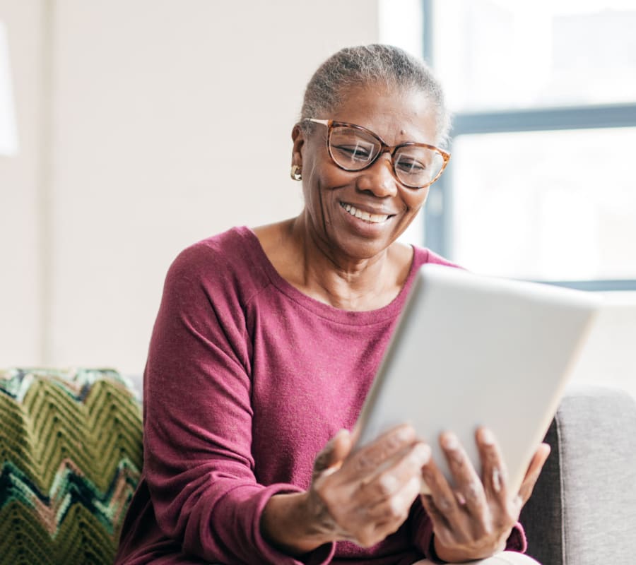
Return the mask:
[(459, 136), (450, 256), (482, 273), (636, 279), (636, 128)]

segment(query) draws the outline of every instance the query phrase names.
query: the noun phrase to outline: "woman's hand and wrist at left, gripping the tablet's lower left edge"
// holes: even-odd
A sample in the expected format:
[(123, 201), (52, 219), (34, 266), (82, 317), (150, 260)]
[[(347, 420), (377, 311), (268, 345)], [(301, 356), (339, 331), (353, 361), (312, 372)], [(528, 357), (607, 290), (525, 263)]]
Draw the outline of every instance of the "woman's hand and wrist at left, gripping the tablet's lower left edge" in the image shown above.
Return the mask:
[(370, 547), (404, 523), (430, 448), (408, 425), (355, 453), (352, 447), (341, 430), (318, 454), (307, 492), (272, 496), (261, 521), (271, 542), (296, 554), (343, 540)]

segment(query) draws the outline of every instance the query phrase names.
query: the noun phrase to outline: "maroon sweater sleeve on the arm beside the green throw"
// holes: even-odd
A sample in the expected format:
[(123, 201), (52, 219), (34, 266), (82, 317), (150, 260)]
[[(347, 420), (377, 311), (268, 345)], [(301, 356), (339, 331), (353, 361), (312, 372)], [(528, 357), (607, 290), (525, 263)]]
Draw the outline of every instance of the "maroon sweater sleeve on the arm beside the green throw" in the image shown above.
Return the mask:
[(223, 263), (199, 245), (175, 260), (153, 328), (144, 474), (156, 520), (184, 552), (206, 561), (327, 563), (333, 544), (293, 558), (261, 535), (269, 498), (301, 489), (255, 478), (249, 336), (235, 281), (217, 259)]

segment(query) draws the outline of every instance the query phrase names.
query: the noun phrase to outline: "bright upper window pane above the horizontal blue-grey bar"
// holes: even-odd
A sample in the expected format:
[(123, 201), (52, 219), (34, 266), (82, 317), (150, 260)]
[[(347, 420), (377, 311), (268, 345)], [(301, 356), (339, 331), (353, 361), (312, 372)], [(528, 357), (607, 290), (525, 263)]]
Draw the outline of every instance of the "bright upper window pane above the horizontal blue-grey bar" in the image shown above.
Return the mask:
[(636, 2), (435, 0), (432, 55), (455, 112), (636, 101)]

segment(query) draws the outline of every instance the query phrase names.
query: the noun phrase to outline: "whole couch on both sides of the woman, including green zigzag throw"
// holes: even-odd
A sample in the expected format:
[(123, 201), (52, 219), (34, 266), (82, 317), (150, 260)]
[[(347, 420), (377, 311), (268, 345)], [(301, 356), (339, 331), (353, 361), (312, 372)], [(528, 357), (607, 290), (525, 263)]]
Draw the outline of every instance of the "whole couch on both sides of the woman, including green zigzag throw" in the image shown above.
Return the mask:
[[(567, 391), (522, 513), (543, 565), (636, 563), (636, 401)], [(141, 401), (109, 369), (0, 371), (0, 565), (110, 564), (141, 470)]]

